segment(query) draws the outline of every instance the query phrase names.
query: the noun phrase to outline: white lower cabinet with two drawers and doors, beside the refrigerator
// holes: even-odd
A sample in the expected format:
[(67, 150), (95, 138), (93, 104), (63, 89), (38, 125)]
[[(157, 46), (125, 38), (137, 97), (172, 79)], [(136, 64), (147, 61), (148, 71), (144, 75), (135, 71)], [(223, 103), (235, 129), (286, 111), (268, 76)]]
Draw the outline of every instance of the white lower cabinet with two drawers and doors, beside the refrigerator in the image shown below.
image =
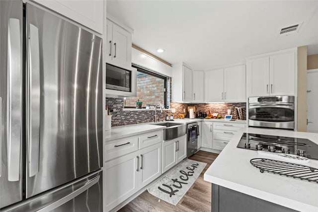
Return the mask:
[[(162, 131), (155, 132), (155, 135), (156, 138), (162, 138)], [(105, 211), (112, 210), (161, 175), (162, 140), (157, 140), (157, 143), (136, 151), (134, 148), (137, 143), (136, 139), (138, 138), (141, 143), (145, 141), (141, 140), (144, 136), (150, 137), (149, 134), (143, 134), (105, 145), (106, 148), (111, 149), (105, 150), (105, 158), (114, 158), (107, 157), (107, 153), (111, 153), (111, 155), (116, 153), (117, 156), (115, 159), (106, 161), (103, 167)], [(151, 139), (156, 138), (154, 136)], [(114, 152), (112, 146), (119, 150)], [(123, 149), (121, 150), (121, 148)], [(131, 149), (133, 152), (127, 154), (127, 149)]]

